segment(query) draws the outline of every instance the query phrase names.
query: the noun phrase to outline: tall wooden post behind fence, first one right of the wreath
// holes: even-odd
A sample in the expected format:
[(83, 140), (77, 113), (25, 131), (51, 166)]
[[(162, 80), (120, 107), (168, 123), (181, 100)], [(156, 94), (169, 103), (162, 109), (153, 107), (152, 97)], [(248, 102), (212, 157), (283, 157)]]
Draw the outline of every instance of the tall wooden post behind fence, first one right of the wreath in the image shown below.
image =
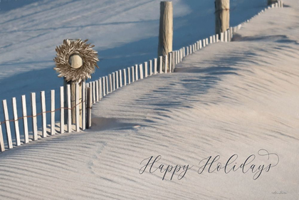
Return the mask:
[[(164, 58), (168, 55), (168, 53), (172, 52), (173, 31), (174, 28), (172, 1), (161, 1), (158, 58), (159, 56), (162, 56), (163, 58), (163, 71), (165, 71), (166, 63), (166, 60)], [(167, 66), (167, 70), (169, 70), (169, 65)]]

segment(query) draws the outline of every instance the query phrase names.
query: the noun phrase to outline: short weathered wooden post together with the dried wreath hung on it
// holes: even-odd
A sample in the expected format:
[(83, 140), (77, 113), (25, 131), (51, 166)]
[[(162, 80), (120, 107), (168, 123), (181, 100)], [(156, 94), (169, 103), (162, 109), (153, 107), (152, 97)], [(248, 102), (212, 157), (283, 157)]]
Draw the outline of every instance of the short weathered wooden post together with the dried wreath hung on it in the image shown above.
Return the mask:
[[(82, 112), (82, 85), (86, 79), (91, 78), (91, 73), (95, 72), (95, 67), (98, 68), (98, 52), (93, 51), (94, 46), (86, 43), (86, 41), (78, 40), (64, 40), (63, 45), (56, 47), (57, 56), (54, 58), (56, 62), (56, 70), (59, 73), (58, 77), (63, 77), (63, 86), (65, 88), (65, 107), (68, 106), (67, 99), (67, 85), (70, 85), (70, 101), (71, 101), (71, 122), (77, 124), (77, 127), (83, 127), (83, 112)], [(78, 84), (78, 89), (76, 89)], [(76, 93), (78, 98), (76, 100)], [(77, 101), (77, 103), (76, 103)], [(79, 103), (80, 102), (80, 103)], [(78, 105), (79, 109), (78, 109)], [(76, 109), (77, 107), (77, 109)], [(76, 112), (79, 118), (76, 120)], [(68, 121), (68, 115), (65, 115), (65, 122)]]

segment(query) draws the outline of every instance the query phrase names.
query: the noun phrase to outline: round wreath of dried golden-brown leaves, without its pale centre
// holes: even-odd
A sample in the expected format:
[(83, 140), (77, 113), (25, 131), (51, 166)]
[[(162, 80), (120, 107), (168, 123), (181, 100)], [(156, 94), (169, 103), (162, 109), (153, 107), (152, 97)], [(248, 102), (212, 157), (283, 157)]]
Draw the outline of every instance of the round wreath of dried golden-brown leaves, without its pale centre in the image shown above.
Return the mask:
[[(74, 81), (79, 83), (81, 80), (91, 78), (91, 74), (95, 73), (97, 65), (98, 52), (93, 50), (94, 45), (86, 43), (88, 40), (64, 40), (61, 46), (56, 46), (56, 70), (58, 77), (64, 77), (66, 81)], [(79, 68), (72, 68), (70, 65), (70, 56), (78, 55), (83, 60), (83, 65)]]

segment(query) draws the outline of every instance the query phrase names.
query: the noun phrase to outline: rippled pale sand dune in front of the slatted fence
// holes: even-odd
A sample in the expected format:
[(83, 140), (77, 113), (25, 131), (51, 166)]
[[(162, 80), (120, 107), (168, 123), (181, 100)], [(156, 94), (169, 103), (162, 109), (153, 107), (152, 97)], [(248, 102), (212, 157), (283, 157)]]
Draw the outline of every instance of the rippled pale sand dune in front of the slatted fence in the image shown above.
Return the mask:
[[(0, 154), (1, 199), (298, 199), (299, 15), (295, 1), (285, 3), (246, 23), (234, 42), (188, 56), (176, 73), (108, 95), (88, 132)], [(260, 149), (280, 161), (256, 180), (241, 169), (197, 173), (216, 155), (225, 164), (238, 154), (238, 166), (251, 154), (257, 166), (277, 163)], [(159, 164), (193, 167), (181, 180), (140, 174), (142, 160), (158, 155)]]

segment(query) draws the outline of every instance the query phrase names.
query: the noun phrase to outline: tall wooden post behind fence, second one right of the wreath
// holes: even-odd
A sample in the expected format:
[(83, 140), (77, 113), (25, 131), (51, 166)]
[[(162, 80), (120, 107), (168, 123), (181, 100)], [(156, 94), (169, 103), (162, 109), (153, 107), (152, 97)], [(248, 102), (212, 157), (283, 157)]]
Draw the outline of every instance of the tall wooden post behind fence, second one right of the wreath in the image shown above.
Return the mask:
[(229, 0), (215, 0), (215, 25), (219, 36), (229, 28)]

